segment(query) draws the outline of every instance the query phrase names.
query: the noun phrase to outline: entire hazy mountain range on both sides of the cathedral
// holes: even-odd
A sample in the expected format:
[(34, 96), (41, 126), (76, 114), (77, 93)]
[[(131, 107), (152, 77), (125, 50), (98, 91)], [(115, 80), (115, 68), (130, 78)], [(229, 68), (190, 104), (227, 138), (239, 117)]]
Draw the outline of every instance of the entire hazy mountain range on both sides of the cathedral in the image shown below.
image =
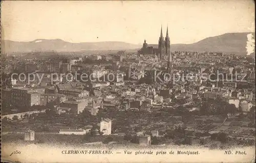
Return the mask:
[[(250, 33), (226, 33), (220, 36), (208, 37), (192, 44), (171, 44), (171, 49), (172, 51), (208, 51), (246, 55), (248, 34)], [(252, 33), (252, 35), (255, 38), (255, 33)], [(71, 43), (61, 39), (36, 39), (30, 42), (3, 40), (1, 45), (2, 53), (132, 50), (141, 47), (142, 45), (117, 41)]]

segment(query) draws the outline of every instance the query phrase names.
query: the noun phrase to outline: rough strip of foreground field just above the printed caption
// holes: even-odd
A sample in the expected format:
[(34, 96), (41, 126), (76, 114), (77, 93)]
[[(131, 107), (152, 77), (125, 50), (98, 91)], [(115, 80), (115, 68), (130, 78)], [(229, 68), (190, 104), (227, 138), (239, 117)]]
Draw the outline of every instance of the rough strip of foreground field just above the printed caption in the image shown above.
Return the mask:
[[(49, 145), (49, 146), (73, 146), (73, 147), (111, 147), (111, 148), (170, 148), (177, 147), (199, 147), (208, 149), (229, 149), (233, 147), (250, 147), (255, 146), (255, 141), (236, 141), (229, 139), (226, 143), (221, 143), (210, 139), (210, 137), (203, 139), (193, 138), (189, 145), (177, 145), (174, 139), (169, 139), (164, 143), (158, 145), (150, 145), (142, 147), (139, 144), (131, 143), (124, 139), (122, 135), (63, 135), (54, 133), (35, 133), (35, 141), (24, 141), (23, 133), (7, 133), (1, 135), (2, 143), (4, 144), (20, 144), (20, 145)], [(111, 141), (103, 143), (105, 139), (111, 137)], [(103, 143), (103, 144), (102, 144)]]

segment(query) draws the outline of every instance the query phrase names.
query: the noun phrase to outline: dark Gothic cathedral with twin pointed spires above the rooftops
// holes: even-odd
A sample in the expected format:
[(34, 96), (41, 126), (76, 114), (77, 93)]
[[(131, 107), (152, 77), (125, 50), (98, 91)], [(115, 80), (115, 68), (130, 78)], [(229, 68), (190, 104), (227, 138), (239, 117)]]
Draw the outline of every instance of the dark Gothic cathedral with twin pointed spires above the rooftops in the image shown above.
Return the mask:
[(161, 27), (161, 33), (159, 37), (158, 44), (147, 44), (146, 40), (144, 40), (142, 48), (138, 51), (139, 54), (143, 55), (156, 55), (159, 59), (168, 56), (170, 53), (170, 38), (168, 35), (168, 27), (166, 31), (165, 38), (163, 37), (163, 31)]

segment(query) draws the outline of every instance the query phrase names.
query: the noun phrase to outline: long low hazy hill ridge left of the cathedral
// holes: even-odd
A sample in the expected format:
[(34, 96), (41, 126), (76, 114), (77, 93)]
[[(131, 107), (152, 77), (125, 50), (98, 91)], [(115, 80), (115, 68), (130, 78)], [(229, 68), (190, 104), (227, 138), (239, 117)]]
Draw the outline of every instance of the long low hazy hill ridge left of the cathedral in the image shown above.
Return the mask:
[(3, 53), (49, 51), (78, 52), (94, 50), (129, 50), (141, 48), (141, 45), (117, 41), (71, 43), (61, 39), (36, 39), (30, 42), (4, 40), (1, 48), (3, 48)]

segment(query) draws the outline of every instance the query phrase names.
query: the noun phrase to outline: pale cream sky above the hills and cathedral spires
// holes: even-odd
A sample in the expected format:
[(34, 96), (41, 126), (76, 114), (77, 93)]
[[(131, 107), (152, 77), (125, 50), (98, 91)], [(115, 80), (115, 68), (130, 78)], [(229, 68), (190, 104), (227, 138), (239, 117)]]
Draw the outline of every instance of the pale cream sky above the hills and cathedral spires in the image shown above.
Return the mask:
[(5, 1), (2, 39), (157, 44), (194, 43), (231, 32), (254, 32), (253, 1)]

